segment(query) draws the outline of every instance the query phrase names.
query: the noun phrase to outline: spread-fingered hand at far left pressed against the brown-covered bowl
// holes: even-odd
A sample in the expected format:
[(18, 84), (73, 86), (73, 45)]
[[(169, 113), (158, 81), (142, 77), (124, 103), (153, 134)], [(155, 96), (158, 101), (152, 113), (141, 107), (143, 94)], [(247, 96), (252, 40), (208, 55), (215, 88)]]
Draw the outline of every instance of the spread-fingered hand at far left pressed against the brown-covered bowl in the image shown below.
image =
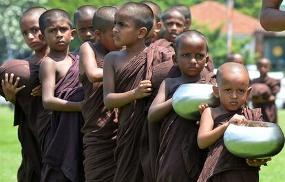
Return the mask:
[(16, 95), (21, 89), (25, 88), (25, 85), (21, 87), (17, 87), (20, 81), (20, 78), (17, 77), (16, 81), (13, 84), (14, 74), (10, 74), (10, 79), (8, 81), (8, 73), (5, 74), (4, 80), (2, 80), (1, 85), (3, 89), (3, 93), (5, 94), (6, 100), (14, 103), (16, 100)]

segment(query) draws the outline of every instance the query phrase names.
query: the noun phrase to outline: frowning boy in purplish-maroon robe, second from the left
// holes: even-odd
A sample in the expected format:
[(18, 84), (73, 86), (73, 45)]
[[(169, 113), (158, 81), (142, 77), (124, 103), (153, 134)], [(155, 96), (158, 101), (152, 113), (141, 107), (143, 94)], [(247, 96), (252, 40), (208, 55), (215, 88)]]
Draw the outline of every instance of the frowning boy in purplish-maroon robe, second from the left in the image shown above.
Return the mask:
[(41, 181), (83, 181), (83, 118), (79, 113), (83, 89), (78, 81), (78, 56), (68, 52), (76, 30), (67, 12), (59, 9), (41, 14), (39, 25), (50, 47), (39, 70), (43, 106), (53, 111)]

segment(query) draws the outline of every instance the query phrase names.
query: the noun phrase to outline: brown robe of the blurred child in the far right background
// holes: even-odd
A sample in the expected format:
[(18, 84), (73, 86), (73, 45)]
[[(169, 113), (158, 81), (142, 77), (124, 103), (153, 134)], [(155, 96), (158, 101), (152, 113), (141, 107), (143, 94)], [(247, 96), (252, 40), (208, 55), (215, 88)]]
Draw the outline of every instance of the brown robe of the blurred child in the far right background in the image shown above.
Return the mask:
[[(269, 76), (266, 76), (264, 78), (256, 78), (252, 80), (252, 84), (254, 83), (263, 83), (268, 85), (268, 87), (271, 89), (271, 94), (276, 95), (280, 91), (280, 80), (276, 80), (274, 78), (270, 78)], [(262, 115), (263, 119), (266, 122), (273, 122), (277, 123), (277, 108), (275, 105), (275, 101), (266, 102), (264, 104), (253, 104), (254, 108), (261, 108), (262, 109)]]

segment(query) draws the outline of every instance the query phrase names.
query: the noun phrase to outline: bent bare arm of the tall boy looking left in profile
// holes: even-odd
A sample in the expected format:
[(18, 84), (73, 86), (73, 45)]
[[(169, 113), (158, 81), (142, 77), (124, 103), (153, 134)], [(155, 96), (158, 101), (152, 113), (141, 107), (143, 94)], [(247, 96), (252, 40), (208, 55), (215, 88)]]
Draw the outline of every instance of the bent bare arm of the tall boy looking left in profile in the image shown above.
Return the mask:
[(105, 56), (104, 59), (104, 75), (103, 75), (103, 90), (104, 104), (108, 109), (114, 109), (125, 106), (136, 99), (148, 97), (151, 95), (151, 82), (142, 80), (136, 89), (124, 93), (115, 93), (115, 72), (112, 63), (114, 55)]

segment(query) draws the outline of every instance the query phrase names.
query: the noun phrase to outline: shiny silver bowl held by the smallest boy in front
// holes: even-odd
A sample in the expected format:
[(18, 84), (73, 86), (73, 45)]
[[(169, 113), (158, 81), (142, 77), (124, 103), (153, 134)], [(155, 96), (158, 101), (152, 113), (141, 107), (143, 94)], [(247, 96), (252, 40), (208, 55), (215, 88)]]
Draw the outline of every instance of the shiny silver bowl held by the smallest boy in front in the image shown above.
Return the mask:
[(284, 146), (284, 134), (277, 124), (249, 121), (250, 126), (229, 124), (224, 145), (233, 155), (246, 159), (267, 159)]

